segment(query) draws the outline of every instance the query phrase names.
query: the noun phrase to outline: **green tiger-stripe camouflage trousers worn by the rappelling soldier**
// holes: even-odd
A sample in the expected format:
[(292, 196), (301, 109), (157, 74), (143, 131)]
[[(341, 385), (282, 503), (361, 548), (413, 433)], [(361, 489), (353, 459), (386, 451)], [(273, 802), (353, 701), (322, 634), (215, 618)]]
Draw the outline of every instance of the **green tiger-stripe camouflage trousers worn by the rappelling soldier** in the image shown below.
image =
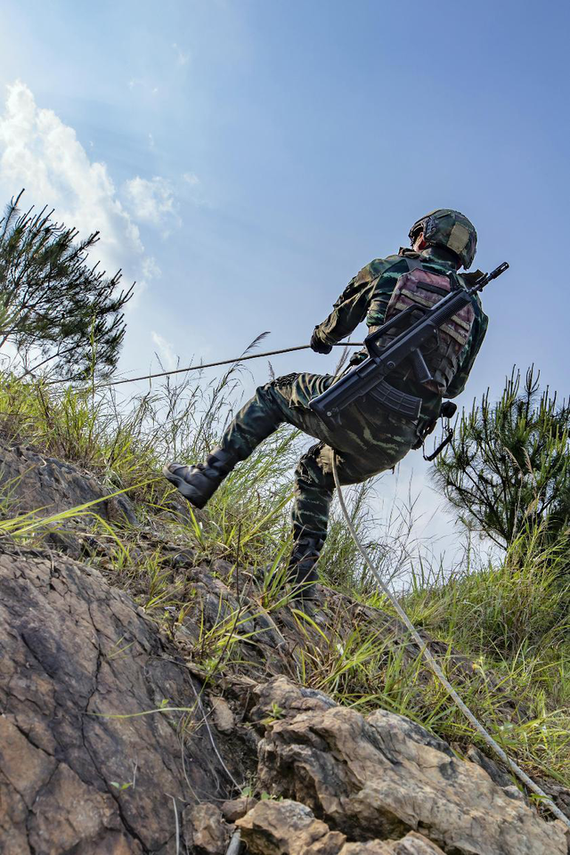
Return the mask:
[(334, 381), (332, 375), (288, 374), (265, 386), (240, 410), (221, 445), (239, 460), (284, 422), (320, 440), (299, 460), (295, 472), (293, 532), (326, 537), (334, 493), (333, 454), (342, 485), (359, 484), (395, 464), (418, 439), (417, 424), (383, 410), (371, 399), (347, 407), (338, 428), (327, 428), (308, 403)]

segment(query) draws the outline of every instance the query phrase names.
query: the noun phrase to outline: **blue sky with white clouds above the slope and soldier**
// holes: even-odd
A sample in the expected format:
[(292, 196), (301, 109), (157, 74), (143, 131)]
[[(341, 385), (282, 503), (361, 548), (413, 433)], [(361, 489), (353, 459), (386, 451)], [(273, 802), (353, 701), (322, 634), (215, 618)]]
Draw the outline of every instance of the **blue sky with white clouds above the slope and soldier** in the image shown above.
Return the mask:
[(515, 362), (566, 394), (567, 3), (0, 9), (2, 198), (26, 186), (101, 229), (102, 260), (141, 283), (123, 371), (232, 356), (263, 330), (267, 349), (305, 343), (362, 265), (452, 207), (476, 265), (511, 265), (460, 403)]

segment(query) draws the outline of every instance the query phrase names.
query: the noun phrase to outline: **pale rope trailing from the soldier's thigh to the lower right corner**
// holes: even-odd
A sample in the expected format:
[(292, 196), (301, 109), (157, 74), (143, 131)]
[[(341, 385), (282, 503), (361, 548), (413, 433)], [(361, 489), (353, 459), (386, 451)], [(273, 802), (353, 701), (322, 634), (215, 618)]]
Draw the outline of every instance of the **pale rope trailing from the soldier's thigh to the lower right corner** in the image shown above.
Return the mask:
[(538, 784), (535, 784), (533, 779), (529, 778), (528, 775), (526, 774), (526, 772), (523, 771), (523, 769), (521, 769), (520, 766), (517, 766), (517, 763), (515, 761), (513, 761), (509, 758), (509, 756), (501, 748), (501, 745), (499, 745), (497, 742), (495, 742), (495, 740), (493, 739), (491, 734), (487, 730), (485, 730), (485, 728), (483, 727), (481, 722), (476, 719), (475, 715), (468, 708), (467, 704), (465, 704), (461, 700), (460, 696), (457, 694), (455, 689), (452, 687), (452, 684), (447, 679), (444, 672), (442, 671), (439, 664), (437, 663), (436, 658), (431, 654), (427, 643), (421, 639), (419, 632), (416, 630), (413, 623), (411, 623), (411, 620), (408, 617), (408, 615), (406, 615), (406, 613), (403, 611), (403, 608), (400, 606), (400, 603), (398, 602), (398, 600), (395, 599), (394, 594), (387, 588), (387, 585), (384, 582), (382, 582), (382, 579), (380, 577), (378, 570), (372, 564), (371, 558), (370, 558), (367, 550), (365, 550), (365, 548), (362, 546), (362, 543), (359, 540), (358, 534), (356, 533), (356, 530), (355, 530), (354, 525), (353, 525), (353, 521), (350, 518), (350, 515), (348, 514), (348, 510), (346, 509), (345, 500), (343, 499), (342, 490), (340, 488), (340, 482), (338, 480), (336, 457), (337, 457), (336, 454), (333, 454), (333, 457), (332, 457), (332, 474), (334, 476), (335, 485), (337, 487), (338, 501), (340, 503), (340, 509), (342, 510), (343, 516), (346, 519), (346, 525), (348, 525), (348, 529), (349, 529), (350, 533), (352, 534), (354, 543), (358, 547), (358, 550), (360, 551), (362, 558), (364, 558), (364, 561), (366, 562), (366, 566), (368, 566), (369, 570), (371, 571), (371, 574), (373, 574), (374, 578), (379, 583), (381, 590), (384, 591), (387, 598), (390, 600), (392, 605), (395, 607), (395, 611), (396, 611), (398, 617), (400, 618), (402, 623), (406, 626), (407, 630), (410, 632), (411, 638), (414, 639), (414, 641), (418, 645), (419, 651), (420, 651), (421, 655), (423, 655), (423, 657), (425, 658), (426, 662), (428, 663), (429, 668), (431, 669), (432, 672), (434, 672), (437, 679), (440, 681), (442, 686), (444, 686), (446, 692), (452, 697), (455, 704), (457, 704), (457, 706), (460, 708), (460, 711), (463, 713), (463, 715), (468, 719), (468, 721), (471, 722), (471, 724), (476, 729), (479, 736), (482, 737), (483, 739), (485, 739), (486, 744), (489, 745), (489, 747), (493, 749), (494, 753), (496, 753), (501, 758), (501, 761), (503, 761), (503, 763), (505, 763), (509, 767), (509, 769), (512, 772), (514, 772), (514, 774), (517, 776), (517, 778), (519, 778), (519, 780), (521, 780), (523, 782), (523, 784), (525, 784), (525, 786), (527, 786), (530, 790), (532, 790), (533, 793), (540, 796), (542, 802), (544, 804), (548, 805), (548, 807), (550, 808), (550, 810), (552, 811), (554, 816), (557, 819), (560, 819), (563, 823), (565, 823), (565, 825), (568, 828), (570, 828), (570, 818), (566, 817), (566, 814), (564, 814), (557, 807), (557, 805), (552, 801), (550, 796), (548, 796), (544, 792), (544, 790), (542, 790), (541, 787), (538, 786)]

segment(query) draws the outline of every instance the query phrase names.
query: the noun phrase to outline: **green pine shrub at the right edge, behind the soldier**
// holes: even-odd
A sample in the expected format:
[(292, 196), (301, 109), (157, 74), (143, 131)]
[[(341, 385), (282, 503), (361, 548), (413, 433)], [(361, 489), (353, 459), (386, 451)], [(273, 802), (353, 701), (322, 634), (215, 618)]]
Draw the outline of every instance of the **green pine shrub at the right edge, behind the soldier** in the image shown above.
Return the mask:
[(505, 546), (527, 525), (562, 531), (570, 517), (570, 407), (540, 392), (533, 368), (513, 370), (496, 403), (489, 392), (463, 412), (435, 465), (436, 485), (460, 520)]

